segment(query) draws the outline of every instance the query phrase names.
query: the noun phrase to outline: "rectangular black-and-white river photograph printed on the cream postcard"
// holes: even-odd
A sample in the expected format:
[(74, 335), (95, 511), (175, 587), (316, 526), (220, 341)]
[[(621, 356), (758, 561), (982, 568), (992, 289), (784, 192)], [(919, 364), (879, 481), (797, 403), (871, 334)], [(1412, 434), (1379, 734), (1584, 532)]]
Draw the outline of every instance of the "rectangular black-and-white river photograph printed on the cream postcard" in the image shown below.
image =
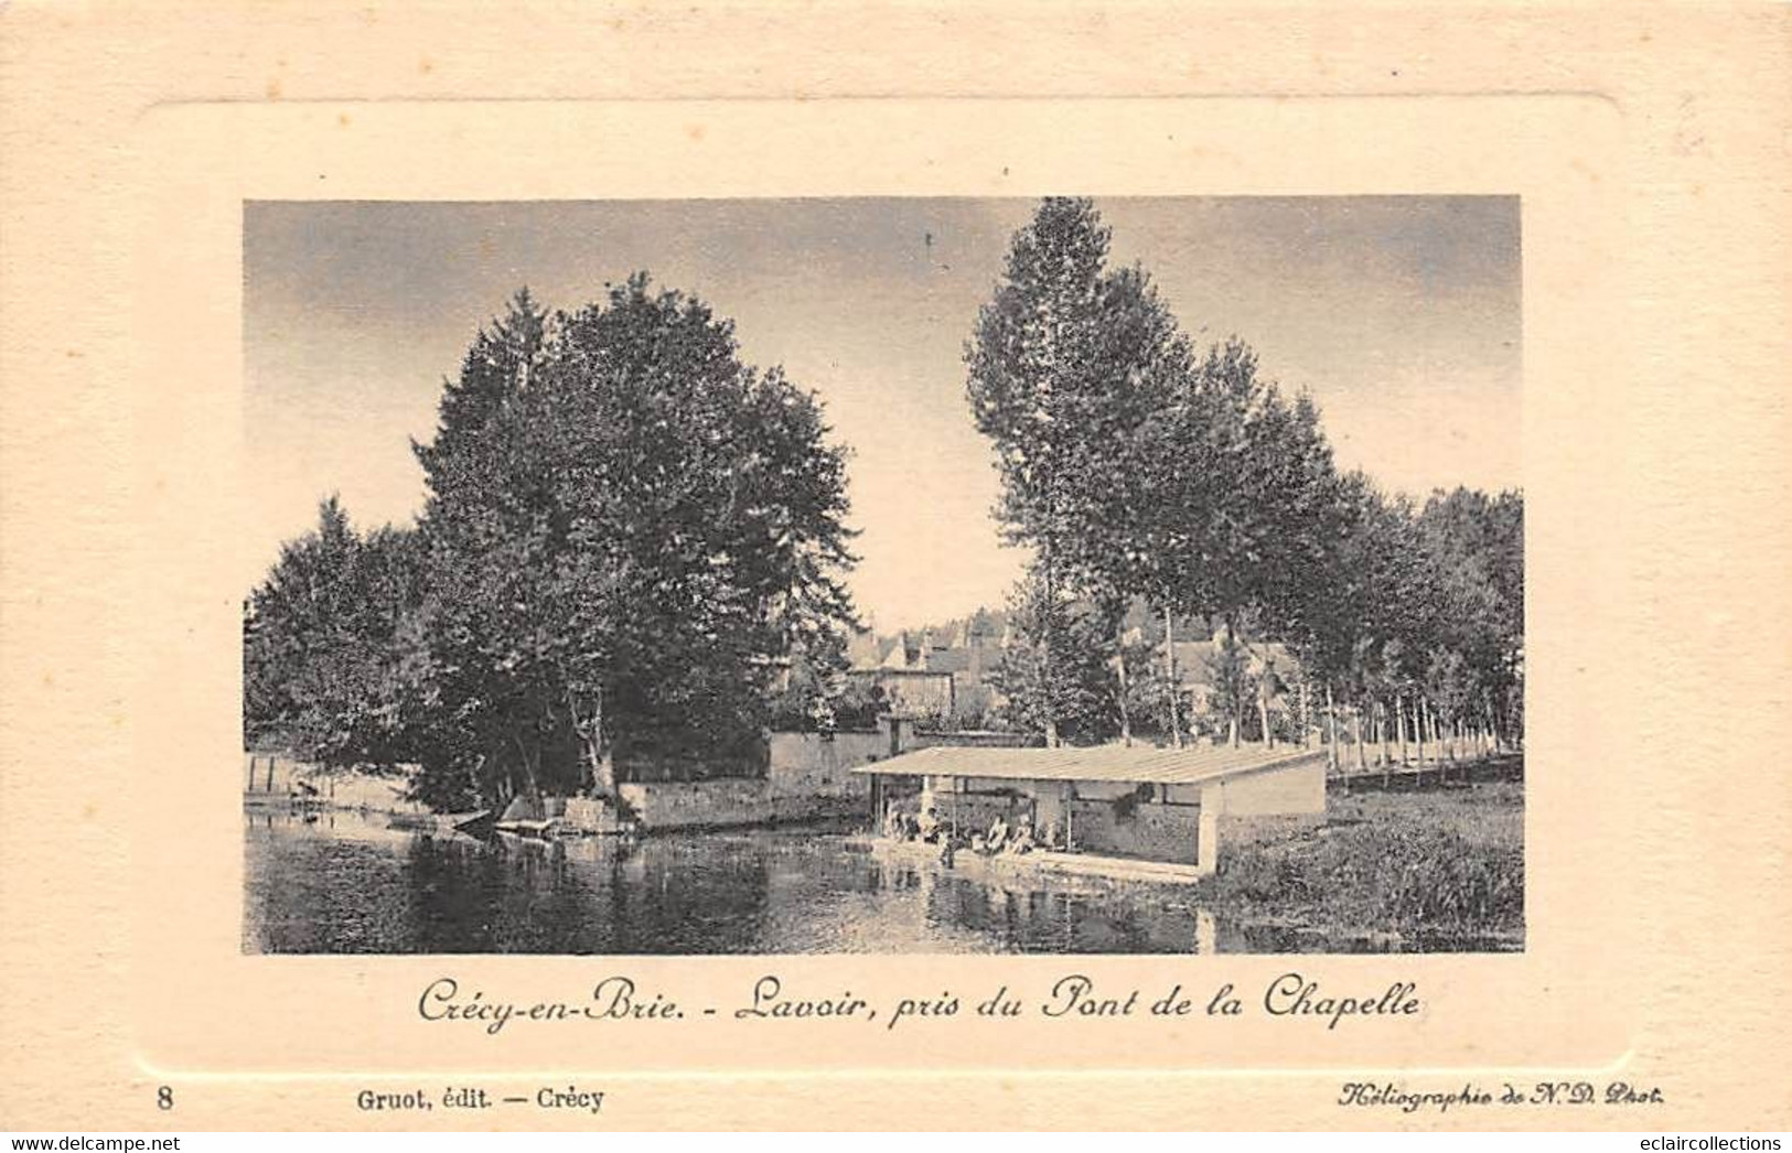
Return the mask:
[(244, 951), (1523, 951), (1520, 217), (244, 204)]

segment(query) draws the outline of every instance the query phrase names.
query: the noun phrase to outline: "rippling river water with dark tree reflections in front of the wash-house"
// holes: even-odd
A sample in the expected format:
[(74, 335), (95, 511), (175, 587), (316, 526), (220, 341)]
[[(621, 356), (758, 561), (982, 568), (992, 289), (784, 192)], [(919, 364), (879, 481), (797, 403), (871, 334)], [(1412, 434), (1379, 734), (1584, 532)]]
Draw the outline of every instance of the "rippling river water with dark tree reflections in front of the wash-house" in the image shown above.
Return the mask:
[(480, 841), (355, 813), (246, 825), (249, 952), (1283, 951), (1170, 888), (964, 875), (814, 829)]

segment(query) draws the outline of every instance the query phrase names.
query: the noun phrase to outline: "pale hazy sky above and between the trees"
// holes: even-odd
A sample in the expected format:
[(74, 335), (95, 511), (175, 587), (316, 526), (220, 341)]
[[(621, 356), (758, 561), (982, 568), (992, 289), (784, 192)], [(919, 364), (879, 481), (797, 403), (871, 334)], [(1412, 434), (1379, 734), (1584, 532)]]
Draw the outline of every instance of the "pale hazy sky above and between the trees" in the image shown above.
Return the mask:
[[(995, 457), (964, 342), (1034, 201), (249, 202), (244, 587), (339, 492), (410, 523), (444, 378), (527, 285), (577, 308), (647, 270), (737, 322), (747, 363), (819, 394), (851, 448), (849, 584), (880, 630), (996, 607), (1025, 553), (989, 516)], [(1236, 333), (1305, 389), (1339, 464), (1385, 489), (1521, 487), (1516, 197), (1100, 199), (1202, 346)]]

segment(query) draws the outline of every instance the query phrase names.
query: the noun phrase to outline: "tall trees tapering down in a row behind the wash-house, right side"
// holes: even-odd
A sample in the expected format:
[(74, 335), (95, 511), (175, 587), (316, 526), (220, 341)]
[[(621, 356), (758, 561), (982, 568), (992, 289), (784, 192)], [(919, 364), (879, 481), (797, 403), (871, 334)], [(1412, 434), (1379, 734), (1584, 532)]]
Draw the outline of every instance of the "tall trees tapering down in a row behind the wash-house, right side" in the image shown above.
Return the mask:
[[(1176, 716), (1174, 648), (1154, 666), (1118, 627), (1147, 605), (1215, 621), (1217, 696), (1240, 739), (1247, 713), (1272, 734), (1278, 680), (1301, 732), (1337, 709), (1357, 730), (1516, 734), (1523, 673), (1523, 498), (1459, 489), (1423, 507), (1340, 473), (1305, 394), (1287, 396), (1242, 340), (1204, 351), (1150, 278), (1111, 269), (1093, 204), (1045, 201), (966, 347), (973, 417), (1002, 476), (996, 516), (1032, 550), (1012, 598), (1029, 645), (1002, 670), (1012, 707), (1047, 743), (1125, 734), (1138, 686)], [(1186, 636), (1186, 634), (1185, 634)], [(1249, 673), (1253, 639), (1296, 668)], [(1158, 671), (1161, 668), (1161, 673)], [(1254, 691), (1247, 691), (1245, 680)], [(1149, 723), (1149, 722), (1147, 722)]]

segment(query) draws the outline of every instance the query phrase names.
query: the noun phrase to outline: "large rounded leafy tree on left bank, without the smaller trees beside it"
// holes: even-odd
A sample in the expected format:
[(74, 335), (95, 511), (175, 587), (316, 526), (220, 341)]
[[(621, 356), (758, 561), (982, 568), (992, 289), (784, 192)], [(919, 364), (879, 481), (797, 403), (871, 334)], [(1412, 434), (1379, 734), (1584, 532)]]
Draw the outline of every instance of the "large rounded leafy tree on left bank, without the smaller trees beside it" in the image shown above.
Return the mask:
[(846, 465), (815, 397), (645, 274), (482, 331), (418, 446), (450, 772), (607, 791), (758, 756), (774, 664), (851, 623)]

